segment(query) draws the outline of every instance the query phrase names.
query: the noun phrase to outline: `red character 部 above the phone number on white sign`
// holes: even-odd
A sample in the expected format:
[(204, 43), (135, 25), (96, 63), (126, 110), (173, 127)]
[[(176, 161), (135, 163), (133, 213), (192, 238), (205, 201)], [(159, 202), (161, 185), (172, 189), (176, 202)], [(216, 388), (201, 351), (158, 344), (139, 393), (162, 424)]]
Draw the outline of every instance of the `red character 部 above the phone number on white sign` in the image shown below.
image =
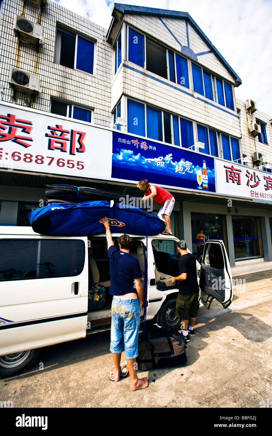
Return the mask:
[[(48, 126), (50, 133), (45, 133), (48, 139), (48, 150), (60, 150), (67, 153), (69, 147), (69, 154), (75, 156), (76, 153), (83, 153), (86, 151), (83, 140), (86, 136), (85, 132), (78, 130), (65, 130), (63, 126), (56, 124), (55, 127)], [(70, 135), (70, 137), (69, 137)], [(78, 144), (78, 145), (77, 145)]]

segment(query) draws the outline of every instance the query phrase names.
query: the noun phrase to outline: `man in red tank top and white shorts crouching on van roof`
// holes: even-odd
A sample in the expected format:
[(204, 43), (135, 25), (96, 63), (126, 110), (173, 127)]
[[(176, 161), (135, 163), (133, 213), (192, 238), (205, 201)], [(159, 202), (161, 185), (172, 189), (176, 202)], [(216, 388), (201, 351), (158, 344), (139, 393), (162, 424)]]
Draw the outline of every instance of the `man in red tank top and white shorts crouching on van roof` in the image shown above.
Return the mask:
[(153, 201), (161, 206), (158, 217), (165, 221), (167, 225), (167, 231), (162, 232), (162, 234), (172, 235), (170, 215), (175, 204), (175, 198), (170, 194), (170, 192), (166, 191), (166, 189), (157, 185), (150, 185), (146, 179), (141, 180), (137, 187), (145, 192), (142, 201), (146, 201), (148, 198), (153, 198)]

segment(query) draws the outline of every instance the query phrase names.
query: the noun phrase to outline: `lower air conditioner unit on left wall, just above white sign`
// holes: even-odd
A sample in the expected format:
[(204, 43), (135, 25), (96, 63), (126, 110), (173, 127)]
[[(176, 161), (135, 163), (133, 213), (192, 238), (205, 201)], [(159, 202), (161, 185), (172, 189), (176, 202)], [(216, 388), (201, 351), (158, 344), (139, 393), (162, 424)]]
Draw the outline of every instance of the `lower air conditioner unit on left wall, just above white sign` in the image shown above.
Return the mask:
[(10, 88), (15, 88), (19, 92), (28, 94), (39, 95), (40, 91), (40, 77), (35, 74), (19, 70), (18, 68), (11, 67), (10, 75), (8, 78)]

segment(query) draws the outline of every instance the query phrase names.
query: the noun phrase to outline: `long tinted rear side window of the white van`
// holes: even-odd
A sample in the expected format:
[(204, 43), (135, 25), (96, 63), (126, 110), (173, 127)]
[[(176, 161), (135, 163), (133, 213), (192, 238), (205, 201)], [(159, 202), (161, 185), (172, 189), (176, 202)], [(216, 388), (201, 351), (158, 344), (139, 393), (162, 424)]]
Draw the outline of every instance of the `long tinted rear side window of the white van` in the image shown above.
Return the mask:
[(0, 281), (78, 276), (83, 271), (83, 241), (0, 240)]

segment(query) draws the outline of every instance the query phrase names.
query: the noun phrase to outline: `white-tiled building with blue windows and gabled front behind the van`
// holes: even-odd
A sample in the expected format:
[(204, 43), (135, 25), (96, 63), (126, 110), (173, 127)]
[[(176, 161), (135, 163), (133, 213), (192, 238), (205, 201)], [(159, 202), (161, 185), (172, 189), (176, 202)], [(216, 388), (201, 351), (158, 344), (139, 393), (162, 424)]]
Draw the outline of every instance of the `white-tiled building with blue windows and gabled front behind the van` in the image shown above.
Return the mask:
[[(241, 79), (189, 14), (114, 4), (112, 22), (109, 29), (104, 29), (58, 3), (49, 1), (42, 9), (36, 3), (31, 0), (1, 3), (3, 102), (55, 113), (62, 120), (63, 116), (87, 120), (95, 126), (116, 128), (181, 149), (194, 150), (194, 144), (202, 142), (205, 149), (198, 153), (204, 153), (203, 159), (208, 154), (229, 165), (240, 164), (241, 168), (246, 156), (244, 164), (251, 171), (257, 166), (253, 163), (254, 153), (261, 153), (263, 161), (272, 163), (270, 117), (260, 110), (247, 111), (245, 102), (235, 99), (234, 90), (241, 85)], [(15, 15), (44, 27), (45, 43), (38, 52), (34, 44), (18, 44), (13, 29)], [(70, 44), (68, 53), (65, 41)], [(91, 69), (83, 65), (84, 55), (82, 63), (84, 50), (93, 56)], [(8, 84), (10, 67), (38, 75), (40, 95), (30, 99), (29, 94), (14, 93)], [(114, 126), (117, 117), (125, 122)], [(154, 117), (157, 125), (151, 128), (150, 119)], [(262, 127), (258, 136), (249, 134), (251, 120)], [(271, 172), (268, 166), (261, 169), (264, 174)], [(65, 181), (59, 183), (79, 183), (64, 172), (65, 176)], [(34, 199), (41, 198), (45, 182), (58, 183), (57, 178), (45, 181), (44, 177), (27, 177), (20, 172), (14, 177), (6, 174), (2, 177), (1, 183), (6, 187), (0, 197), (1, 224), (20, 223), (17, 215), (15, 218), (20, 200), (35, 203)], [(220, 177), (223, 175), (217, 174)], [(109, 181), (91, 173), (80, 179), (81, 185), (89, 186), (106, 182), (113, 190), (120, 188), (122, 192), (127, 186), (127, 192), (139, 195), (132, 179), (131, 183), (116, 178)], [(232, 266), (238, 268), (241, 262), (248, 261), (243, 268), (249, 269), (252, 262), (272, 262), (271, 202), (266, 204), (263, 197), (260, 201), (254, 198), (254, 202), (252, 198), (239, 200), (238, 193), (219, 191), (221, 195), (216, 196), (176, 187), (171, 190), (167, 179), (164, 186), (176, 198), (176, 215), (172, 217), (175, 233), (185, 238), (193, 251), (198, 228), (204, 227), (208, 237), (224, 239)], [(233, 199), (231, 208), (228, 198)], [(250, 243), (244, 233), (235, 236), (244, 217), (252, 218), (248, 230), (244, 230), (251, 232)]]

